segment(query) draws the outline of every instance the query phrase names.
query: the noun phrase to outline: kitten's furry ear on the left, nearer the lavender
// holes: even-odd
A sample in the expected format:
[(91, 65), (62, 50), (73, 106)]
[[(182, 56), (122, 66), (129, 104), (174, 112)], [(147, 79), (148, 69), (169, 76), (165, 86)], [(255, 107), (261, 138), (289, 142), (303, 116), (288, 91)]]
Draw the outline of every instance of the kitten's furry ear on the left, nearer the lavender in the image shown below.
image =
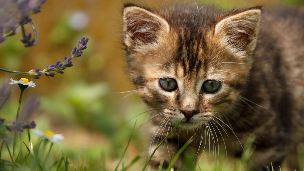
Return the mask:
[(124, 43), (129, 48), (154, 46), (169, 32), (169, 24), (160, 16), (137, 6), (123, 9)]

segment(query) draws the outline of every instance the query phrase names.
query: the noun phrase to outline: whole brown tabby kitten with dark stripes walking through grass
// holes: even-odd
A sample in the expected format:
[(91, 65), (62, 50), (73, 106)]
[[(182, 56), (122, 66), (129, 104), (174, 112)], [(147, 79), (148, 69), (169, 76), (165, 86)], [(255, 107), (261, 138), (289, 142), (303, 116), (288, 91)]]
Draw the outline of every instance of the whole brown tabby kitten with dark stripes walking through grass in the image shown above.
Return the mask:
[(261, 6), (224, 13), (126, 4), (128, 72), (154, 114), (150, 154), (185, 117), (150, 164), (168, 164), (192, 136), (198, 152), (225, 142), (238, 156), (254, 134), (252, 170), (277, 169), (304, 140), (303, 16), (291, 7), (261, 15)]

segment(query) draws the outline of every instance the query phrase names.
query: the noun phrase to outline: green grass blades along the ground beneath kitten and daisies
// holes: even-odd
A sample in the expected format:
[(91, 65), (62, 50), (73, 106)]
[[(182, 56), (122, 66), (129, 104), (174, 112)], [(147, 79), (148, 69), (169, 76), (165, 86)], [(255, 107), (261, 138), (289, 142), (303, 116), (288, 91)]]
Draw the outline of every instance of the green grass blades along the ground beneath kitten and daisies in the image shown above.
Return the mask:
[[(135, 157), (130, 159), (130, 156), (128, 156), (130, 145), (132, 144), (133, 136), (135, 135), (134, 132), (136, 130), (136, 121), (133, 125), (133, 129), (128, 137), (128, 141), (126, 143), (126, 147), (119, 156), (119, 160), (116, 164), (115, 169), (111, 169), (111, 167), (107, 166), (107, 161), (109, 161), (109, 156), (106, 155), (106, 152), (101, 152), (101, 158), (100, 160), (96, 160), (93, 162), (97, 166), (97, 168), (92, 167), (88, 163), (78, 163), (78, 165), (75, 165), (75, 163), (72, 161), (71, 166), (71, 159), (67, 157), (67, 155), (64, 155), (64, 152), (61, 152), (61, 155), (58, 156), (56, 154), (56, 151), (53, 151), (53, 145), (54, 147), (57, 146), (57, 144), (53, 144), (48, 142), (47, 140), (38, 140), (36, 143), (33, 143), (34, 148), (31, 149), (30, 146), (27, 145), (26, 142), (22, 141), (22, 145), (18, 146), (20, 144), (20, 141), (17, 141), (16, 146), (16, 157), (14, 158), (12, 156), (12, 153), (10, 151), (9, 144), (6, 141), (2, 141), (1, 148), (0, 148), (0, 158), (1, 163), (0, 167), (3, 170), (73, 170), (73, 171), (86, 171), (86, 170), (121, 170), (121, 171), (127, 171), (127, 170), (146, 170), (149, 161), (153, 157), (156, 150), (165, 142), (165, 140), (169, 137), (169, 135), (178, 127), (178, 125), (182, 122), (180, 120), (174, 128), (167, 134), (164, 139), (161, 140), (161, 142), (157, 145), (157, 147), (154, 149), (152, 154), (149, 156), (148, 159), (145, 159), (143, 154), (137, 154)], [(30, 136), (30, 133), (28, 132), (26, 135), (21, 136), (20, 138), (26, 138), (28, 144), (30, 145), (32, 143), (32, 139)], [(178, 157), (181, 157), (181, 154), (183, 153), (184, 158), (191, 158), (190, 160), (184, 160), (185, 166), (191, 166), (188, 167), (188, 170), (213, 170), (213, 171), (249, 171), (252, 167), (251, 159), (254, 157), (254, 150), (255, 147), (253, 145), (254, 142), (254, 136), (250, 136), (245, 145), (244, 145), (244, 152), (242, 156), (239, 159), (232, 159), (226, 157), (226, 151), (224, 147), (219, 147), (219, 156), (218, 159), (216, 159), (215, 163), (213, 163), (213, 157), (206, 152), (202, 160), (197, 163), (196, 166), (193, 165), (193, 158), (196, 153), (196, 151), (192, 150), (191, 147), (187, 148), (188, 145), (191, 144), (193, 139), (189, 139), (179, 150), (178, 152), (171, 158), (170, 162), (168, 163), (169, 166), (165, 169), (159, 168), (159, 171), (170, 171), (171, 168), (174, 166), (174, 164), (179, 165), (177, 162)], [(4, 150), (6, 149), (6, 150)], [(4, 152), (5, 151), (5, 152)], [(299, 155), (301, 155), (300, 159), (303, 159), (304, 155), (302, 154), (302, 151), (299, 150)], [(4, 159), (6, 156), (9, 157), (9, 159)], [(127, 158), (126, 158), (127, 156)], [(189, 157), (190, 156), (190, 157)], [(56, 159), (57, 158), (57, 159)], [(212, 162), (211, 162), (212, 159)], [(129, 162), (126, 162), (127, 160), (130, 160)], [(218, 161), (217, 161), (218, 160)], [(98, 162), (99, 161), (99, 162)], [(300, 162), (300, 168), (302, 167), (302, 164)], [(161, 164), (162, 165), (162, 164)], [(192, 168), (192, 169), (189, 169)], [(183, 169), (179, 169), (183, 170)], [(301, 169), (302, 170), (302, 169)], [(268, 168), (268, 171), (275, 171), (274, 168), (271, 166)], [(304, 171), (304, 170), (303, 170)]]

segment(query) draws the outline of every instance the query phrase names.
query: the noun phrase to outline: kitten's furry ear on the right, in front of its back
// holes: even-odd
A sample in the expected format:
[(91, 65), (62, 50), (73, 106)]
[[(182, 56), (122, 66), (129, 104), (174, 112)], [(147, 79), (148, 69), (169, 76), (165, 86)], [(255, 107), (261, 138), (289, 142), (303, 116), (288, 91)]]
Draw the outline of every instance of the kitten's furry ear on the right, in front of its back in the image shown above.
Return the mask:
[(216, 24), (215, 36), (233, 52), (253, 53), (260, 17), (260, 6), (230, 15)]

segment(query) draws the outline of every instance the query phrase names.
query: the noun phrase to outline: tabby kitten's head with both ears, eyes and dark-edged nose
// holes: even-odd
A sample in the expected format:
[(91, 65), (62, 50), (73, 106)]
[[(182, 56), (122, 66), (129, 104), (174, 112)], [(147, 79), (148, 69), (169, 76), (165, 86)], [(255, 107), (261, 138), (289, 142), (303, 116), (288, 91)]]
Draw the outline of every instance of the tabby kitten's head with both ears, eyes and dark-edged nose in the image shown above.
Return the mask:
[(160, 11), (125, 5), (130, 77), (140, 97), (182, 128), (233, 111), (246, 86), (261, 7), (226, 14), (179, 5)]

